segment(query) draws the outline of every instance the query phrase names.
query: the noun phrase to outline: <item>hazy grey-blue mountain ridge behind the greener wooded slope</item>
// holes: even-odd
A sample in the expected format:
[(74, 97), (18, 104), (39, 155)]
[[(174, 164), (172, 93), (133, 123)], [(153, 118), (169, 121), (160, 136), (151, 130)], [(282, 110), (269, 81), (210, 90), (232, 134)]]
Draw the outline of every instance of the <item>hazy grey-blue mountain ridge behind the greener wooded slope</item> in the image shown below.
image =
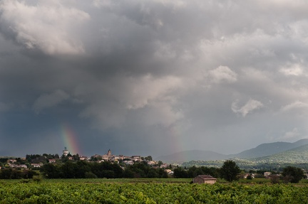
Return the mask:
[[(308, 139), (301, 139), (293, 143), (277, 141), (277, 142), (272, 142), (272, 143), (260, 144), (259, 146), (255, 148), (247, 149), (238, 154), (229, 154), (229, 155), (220, 154), (215, 151), (202, 151), (202, 150), (180, 151), (175, 154), (159, 156), (155, 160), (164, 161), (164, 162), (179, 162), (180, 163), (184, 161), (214, 161), (214, 160), (235, 159), (235, 158), (252, 159), (252, 158), (260, 158), (260, 157), (271, 156), (274, 154), (279, 154), (284, 151), (297, 149), (300, 146), (305, 146), (307, 144), (308, 144)], [(307, 145), (307, 149), (308, 149), (308, 145)]]

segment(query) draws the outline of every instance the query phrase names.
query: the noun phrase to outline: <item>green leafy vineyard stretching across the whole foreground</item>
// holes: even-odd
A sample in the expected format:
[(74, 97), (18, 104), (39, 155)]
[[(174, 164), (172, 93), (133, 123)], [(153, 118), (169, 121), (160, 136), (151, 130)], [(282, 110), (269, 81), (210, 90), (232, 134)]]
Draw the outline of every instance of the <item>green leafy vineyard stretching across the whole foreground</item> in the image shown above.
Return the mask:
[(308, 203), (307, 186), (107, 181), (0, 181), (0, 203)]

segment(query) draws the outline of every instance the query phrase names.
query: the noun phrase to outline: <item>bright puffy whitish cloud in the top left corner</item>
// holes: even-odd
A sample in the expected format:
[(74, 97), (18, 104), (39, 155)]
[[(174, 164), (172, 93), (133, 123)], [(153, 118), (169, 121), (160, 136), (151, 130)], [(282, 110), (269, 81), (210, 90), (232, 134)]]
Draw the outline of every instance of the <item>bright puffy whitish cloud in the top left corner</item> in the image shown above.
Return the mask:
[(0, 10), (8, 35), (26, 48), (51, 55), (84, 52), (81, 41), (74, 39), (72, 28), (90, 18), (86, 12), (66, 8), (56, 1), (39, 1), (36, 6), (29, 6), (16, 0), (1, 1)]

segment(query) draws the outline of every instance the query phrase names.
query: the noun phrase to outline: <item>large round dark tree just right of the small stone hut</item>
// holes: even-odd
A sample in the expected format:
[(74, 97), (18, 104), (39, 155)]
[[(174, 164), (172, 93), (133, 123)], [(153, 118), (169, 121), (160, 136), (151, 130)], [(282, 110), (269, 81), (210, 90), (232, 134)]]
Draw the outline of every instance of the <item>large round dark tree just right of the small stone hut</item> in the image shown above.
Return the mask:
[(240, 168), (232, 160), (225, 161), (222, 168), (220, 168), (220, 175), (229, 182), (237, 180), (237, 174), (240, 172)]

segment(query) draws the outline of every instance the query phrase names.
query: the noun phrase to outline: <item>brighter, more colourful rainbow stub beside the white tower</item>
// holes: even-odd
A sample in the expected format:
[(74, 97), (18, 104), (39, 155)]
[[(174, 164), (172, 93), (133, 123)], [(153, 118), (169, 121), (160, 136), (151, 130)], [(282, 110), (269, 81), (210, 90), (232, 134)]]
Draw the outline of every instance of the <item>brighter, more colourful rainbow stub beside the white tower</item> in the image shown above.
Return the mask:
[(78, 141), (76, 139), (76, 134), (74, 133), (73, 129), (71, 129), (68, 124), (62, 124), (61, 125), (61, 136), (63, 139), (63, 148), (66, 147), (66, 149), (73, 154), (79, 154), (81, 155), (81, 151), (78, 146)]

